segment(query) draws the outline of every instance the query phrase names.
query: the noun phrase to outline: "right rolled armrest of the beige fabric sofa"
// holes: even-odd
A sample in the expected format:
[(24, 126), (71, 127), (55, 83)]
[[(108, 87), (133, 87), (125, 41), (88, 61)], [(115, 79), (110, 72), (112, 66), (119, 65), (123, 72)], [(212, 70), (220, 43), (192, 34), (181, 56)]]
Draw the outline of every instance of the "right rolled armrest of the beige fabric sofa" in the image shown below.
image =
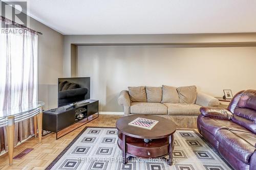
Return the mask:
[(220, 102), (218, 99), (202, 93), (202, 92), (197, 92), (197, 101), (196, 101), (197, 105), (200, 106), (212, 106), (212, 107), (218, 107), (220, 105)]

